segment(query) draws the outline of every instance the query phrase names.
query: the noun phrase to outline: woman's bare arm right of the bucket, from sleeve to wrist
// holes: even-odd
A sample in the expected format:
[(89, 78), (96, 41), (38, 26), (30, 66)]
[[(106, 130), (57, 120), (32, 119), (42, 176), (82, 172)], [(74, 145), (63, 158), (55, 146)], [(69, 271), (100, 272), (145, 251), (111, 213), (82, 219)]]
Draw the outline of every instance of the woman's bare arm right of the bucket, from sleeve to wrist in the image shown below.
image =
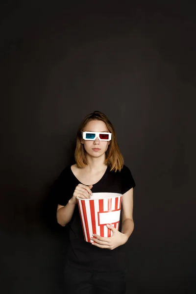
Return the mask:
[(122, 230), (127, 240), (134, 229), (133, 222), (133, 188), (123, 194), (122, 199)]

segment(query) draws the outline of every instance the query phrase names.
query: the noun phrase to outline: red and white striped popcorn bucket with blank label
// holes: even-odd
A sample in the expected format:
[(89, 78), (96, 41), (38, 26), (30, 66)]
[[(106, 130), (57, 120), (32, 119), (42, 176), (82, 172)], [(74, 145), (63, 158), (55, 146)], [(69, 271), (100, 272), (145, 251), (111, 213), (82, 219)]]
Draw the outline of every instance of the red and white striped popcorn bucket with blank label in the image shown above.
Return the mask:
[(119, 229), (122, 194), (94, 193), (90, 199), (77, 197), (84, 239), (90, 240), (93, 234), (101, 237), (111, 237), (112, 231), (106, 224)]

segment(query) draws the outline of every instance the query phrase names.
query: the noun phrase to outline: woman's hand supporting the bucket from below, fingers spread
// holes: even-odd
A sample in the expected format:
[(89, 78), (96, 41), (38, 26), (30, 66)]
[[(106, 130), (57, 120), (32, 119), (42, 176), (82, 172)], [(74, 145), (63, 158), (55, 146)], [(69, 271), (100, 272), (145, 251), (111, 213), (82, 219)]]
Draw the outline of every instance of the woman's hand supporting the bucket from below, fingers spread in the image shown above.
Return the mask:
[(91, 240), (94, 241), (92, 245), (97, 246), (99, 248), (106, 248), (113, 250), (118, 246), (121, 246), (126, 243), (128, 240), (127, 236), (121, 232), (119, 232), (113, 225), (107, 224), (108, 229), (113, 232), (112, 237), (104, 238), (100, 237), (97, 234), (93, 234)]

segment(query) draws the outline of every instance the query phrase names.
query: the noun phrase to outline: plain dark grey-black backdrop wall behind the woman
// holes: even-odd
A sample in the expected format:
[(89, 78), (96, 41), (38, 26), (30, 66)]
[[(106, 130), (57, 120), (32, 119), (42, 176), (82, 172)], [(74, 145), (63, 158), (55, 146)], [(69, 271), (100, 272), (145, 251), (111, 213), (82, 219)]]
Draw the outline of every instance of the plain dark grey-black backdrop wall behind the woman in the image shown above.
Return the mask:
[(1, 4), (3, 294), (65, 293), (51, 185), (94, 110), (136, 181), (127, 294), (196, 292), (196, 9), (177, 3)]

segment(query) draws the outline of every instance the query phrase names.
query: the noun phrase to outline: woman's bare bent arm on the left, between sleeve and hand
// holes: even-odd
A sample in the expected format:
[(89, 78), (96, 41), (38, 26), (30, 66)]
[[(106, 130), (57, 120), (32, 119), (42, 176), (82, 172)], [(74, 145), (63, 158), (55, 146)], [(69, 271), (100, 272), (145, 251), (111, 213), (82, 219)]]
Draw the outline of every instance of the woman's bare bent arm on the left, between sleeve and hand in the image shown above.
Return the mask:
[(73, 198), (71, 198), (65, 206), (58, 204), (56, 219), (60, 225), (65, 226), (71, 221), (75, 205)]

